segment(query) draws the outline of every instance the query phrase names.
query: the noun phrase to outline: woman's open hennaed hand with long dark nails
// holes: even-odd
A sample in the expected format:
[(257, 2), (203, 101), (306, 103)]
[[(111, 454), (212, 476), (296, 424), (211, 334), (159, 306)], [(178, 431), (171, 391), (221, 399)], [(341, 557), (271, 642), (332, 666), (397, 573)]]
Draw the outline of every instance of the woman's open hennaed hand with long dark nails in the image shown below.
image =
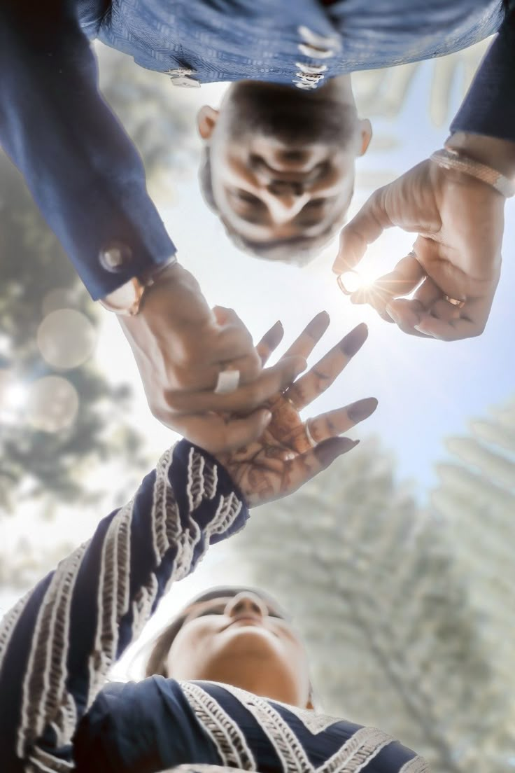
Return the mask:
[[(307, 325), (284, 357), (309, 356), (328, 325), (329, 315), (321, 312)], [(272, 417), (258, 440), (238, 451), (217, 455), (242, 489), (249, 506), (271, 502), (296, 491), (357, 444), (358, 441), (338, 438), (338, 435), (374, 412), (378, 404), (374, 397), (330, 410), (306, 422), (300, 418), (300, 410), (334, 382), (361, 349), (367, 336), (366, 325), (357, 325), (308, 373), (266, 402)], [(278, 322), (257, 346), (263, 364), (282, 338), (283, 327)]]

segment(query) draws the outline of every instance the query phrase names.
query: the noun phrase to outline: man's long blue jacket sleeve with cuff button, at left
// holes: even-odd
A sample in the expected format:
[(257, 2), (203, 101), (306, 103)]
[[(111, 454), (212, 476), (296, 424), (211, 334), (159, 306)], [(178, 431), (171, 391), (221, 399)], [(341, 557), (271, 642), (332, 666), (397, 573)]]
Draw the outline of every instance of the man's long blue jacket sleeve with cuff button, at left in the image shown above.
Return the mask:
[[(2, 2), (0, 144), (96, 299), (175, 250), (141, 158), (98, 92), (75, 5)], [(110, 271), (100, 256), (114, 242), (127, 261)]]

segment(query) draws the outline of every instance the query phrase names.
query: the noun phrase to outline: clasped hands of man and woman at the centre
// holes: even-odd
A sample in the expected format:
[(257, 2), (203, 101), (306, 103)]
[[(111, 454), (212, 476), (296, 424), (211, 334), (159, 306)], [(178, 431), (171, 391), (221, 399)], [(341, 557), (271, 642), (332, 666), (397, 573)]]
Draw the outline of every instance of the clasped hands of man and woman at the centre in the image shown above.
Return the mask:
[[(252, 453), (256, 451), (256, 443), (261, 442), (266, 430), (266, 449), (265, 445), (259, 446), (256, 465), (266, 457), (273, 458), (277, 472), (283, 470), (285, 476), (293, 470), (291, 481), (284, 478), (280, 484), (289, 488), (300, 485), (300, 478), (309, 476), (308, 468), (324, 463), (324, 455), (332, 453), (322, 441), (351, 426), (346, 409), (314, 421), (310, 438), (315, 444), (322, 442), (317, 451), (306, 445), (307, 435), (298, 412), (334, 381), (361, 347), (367, 337), (364, 325), (332, 349), (316, 366), (318, 369), (292, 386), (327, 329), (329, 317), (325, 312), (307, 325), (272, 367), (265, 365), (282, 339), (282, 325), (276, 323), (255, 347), (235, 312), (210, 309), (195, 278), (178, 264), (159, 274), (159, 280), (145, 293), (137, 316), (119, 319), (134, 352), (152, 414), (212, 454), (237, 451), (242, 462), (249, 448)], [(215, 393), (219, 373), (228, 365), (239, 370), (239, 386), (230, 393)], [(374, 410), (376, 404), (372, 400), (365, 408), (372, 406)], [(364, 415), (359, 414), (361, 418)], [(335, 455), (341, 453), (340, 446), (333, 450)], [(293, 456), (287, 459), (283, 452)], [(296, 456), (303, 454), (307, 456), (294, 465)], [(259, 464), (263, 470), (265, 462)], [(263, 477), (267, 485), (271, 485), (271, 475), (268, 470)]]

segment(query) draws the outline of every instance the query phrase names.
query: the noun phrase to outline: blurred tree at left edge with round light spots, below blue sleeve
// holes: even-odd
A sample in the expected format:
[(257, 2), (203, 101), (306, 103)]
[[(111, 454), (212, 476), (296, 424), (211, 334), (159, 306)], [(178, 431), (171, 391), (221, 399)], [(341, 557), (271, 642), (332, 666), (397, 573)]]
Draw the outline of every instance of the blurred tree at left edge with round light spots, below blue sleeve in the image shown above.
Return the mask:
[[(0, 400), (7, 404), (0, 414), (0, 509), (45, 493), (63, 502), (88, 501), (99, 493), (82, 483), (93, 459), (139, 461), (141, 438), (123, 418), (130, 392), (110, 386), (91, 360), (63, 372), (42, 358), (37, 333), (46, 312), (73, 308), (94, 330), (97, 309), (5, 156), (0, 156), (0, 251), (0, 386), (5, 387)], [(49, 375), (66, 380), (79, 403), (74, 420), (58, 431), (26, 421), (23, 404), (8, 410), (13, 385), (30, 386)], [(8, 377), (12, 383), (5, 383)], [(54, 390), (40, 409), (50, 414), (56, 407)]]

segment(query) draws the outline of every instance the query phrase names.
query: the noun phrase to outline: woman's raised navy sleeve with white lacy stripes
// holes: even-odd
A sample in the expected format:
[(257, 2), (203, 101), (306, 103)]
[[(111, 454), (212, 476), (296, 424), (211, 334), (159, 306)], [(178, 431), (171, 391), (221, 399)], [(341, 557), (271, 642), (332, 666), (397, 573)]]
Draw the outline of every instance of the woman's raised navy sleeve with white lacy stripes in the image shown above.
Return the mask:
[[(126, 506), (0, 625), (2, 770), (69, 771), (80, 717), (161, 596), (248, 512), (224, 468), (186, 441)], [(5, 700), (8, 696), (8, 700)]]

